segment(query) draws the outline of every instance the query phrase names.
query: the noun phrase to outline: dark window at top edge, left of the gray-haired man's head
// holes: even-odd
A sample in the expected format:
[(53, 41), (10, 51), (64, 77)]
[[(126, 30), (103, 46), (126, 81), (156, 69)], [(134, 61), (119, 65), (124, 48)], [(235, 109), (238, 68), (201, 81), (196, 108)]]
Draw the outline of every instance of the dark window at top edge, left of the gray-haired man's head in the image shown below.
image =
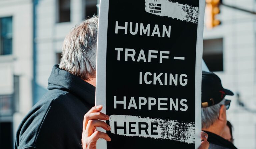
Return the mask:
[(70, 22), (70, 0), (58, 0), (57, 23)]

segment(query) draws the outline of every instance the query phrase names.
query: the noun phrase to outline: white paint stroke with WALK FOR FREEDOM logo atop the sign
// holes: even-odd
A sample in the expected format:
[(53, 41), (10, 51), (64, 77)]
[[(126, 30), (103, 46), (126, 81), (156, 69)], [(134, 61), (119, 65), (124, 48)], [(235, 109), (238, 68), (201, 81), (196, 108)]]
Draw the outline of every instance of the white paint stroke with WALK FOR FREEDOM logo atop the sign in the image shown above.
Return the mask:
[[(155, 14), (158, 16), (167, 16), (170, 18), (176, 18), (178, 20), (187, 22), (198, 22), (198, 7), (190, 6), (187, 4), (181, 4), (178, 2), (172, 2), (169, 0), (145, 0), (146, 1), (146, 12)], [(154, 2), (155, 1), (155, 2)], [(149, 4), (161, 4), (161, 13), (150, 12)], [(153, 6), (154, 7), (154, 6)], [(157, 7), (157, 6), (156, 6)]]

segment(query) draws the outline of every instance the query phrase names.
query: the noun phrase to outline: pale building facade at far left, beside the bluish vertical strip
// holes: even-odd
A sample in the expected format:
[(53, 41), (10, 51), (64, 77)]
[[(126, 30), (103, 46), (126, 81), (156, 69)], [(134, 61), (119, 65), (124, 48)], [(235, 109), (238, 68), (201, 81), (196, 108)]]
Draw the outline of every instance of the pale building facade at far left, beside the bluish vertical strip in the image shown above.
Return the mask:
[(0, 0), (0, 148), (13, 148), (20, 120), (32, 107), (33, 3)]

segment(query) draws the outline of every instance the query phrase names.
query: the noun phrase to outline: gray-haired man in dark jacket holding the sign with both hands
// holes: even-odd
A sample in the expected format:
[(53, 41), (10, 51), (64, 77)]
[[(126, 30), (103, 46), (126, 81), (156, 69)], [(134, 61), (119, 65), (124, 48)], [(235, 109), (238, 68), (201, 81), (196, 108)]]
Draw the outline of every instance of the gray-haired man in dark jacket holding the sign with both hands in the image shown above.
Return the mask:
[[(48, 79), (49, 91), (20, 123), (15, 149), (84, 149), (96, 147), (103, 138), (111, 141), (102, 127), (109, 116), (95, 105), (96, 45), (98, 17), (76, 26), (65, 38), (60, 65), (54, 65)], [(83, 131), (82, 131), (83, 130)], [(207, 134), (202, 132), (200, 149), (207, 149)], [(82, 140), (81, 140), (82, 139)]]

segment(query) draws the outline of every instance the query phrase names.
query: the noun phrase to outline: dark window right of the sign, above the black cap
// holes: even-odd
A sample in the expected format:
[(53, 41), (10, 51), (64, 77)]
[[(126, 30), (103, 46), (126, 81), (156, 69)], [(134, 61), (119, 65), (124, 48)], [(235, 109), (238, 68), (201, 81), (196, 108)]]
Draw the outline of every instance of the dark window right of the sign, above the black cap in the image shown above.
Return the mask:
[(203, 44), (203, 60), (209, 70), (223, 71), (223, 38), (206, 39)]

